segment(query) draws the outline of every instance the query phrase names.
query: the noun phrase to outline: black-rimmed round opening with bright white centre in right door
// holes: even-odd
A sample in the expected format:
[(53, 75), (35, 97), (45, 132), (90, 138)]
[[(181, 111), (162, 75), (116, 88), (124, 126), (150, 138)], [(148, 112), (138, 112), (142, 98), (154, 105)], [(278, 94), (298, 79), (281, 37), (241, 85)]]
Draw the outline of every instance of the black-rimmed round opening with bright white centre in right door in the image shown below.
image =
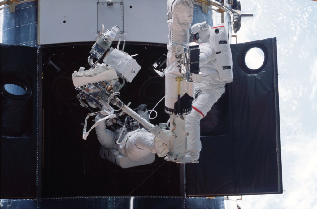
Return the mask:
[(239, 64), (243, 71), (255, 74), (263, 70), (268, 61), (268, 50), (261, 43), (247, 45), (240, 53)]

